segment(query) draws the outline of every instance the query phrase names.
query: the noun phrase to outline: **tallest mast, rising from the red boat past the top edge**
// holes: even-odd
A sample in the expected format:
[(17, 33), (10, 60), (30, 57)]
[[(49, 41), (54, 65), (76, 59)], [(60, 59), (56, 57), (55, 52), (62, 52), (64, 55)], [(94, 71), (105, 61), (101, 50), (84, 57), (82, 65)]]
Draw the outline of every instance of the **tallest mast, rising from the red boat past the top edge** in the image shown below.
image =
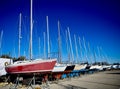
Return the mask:
[(33, 31), (33, 15), (32, 15), (32, 0), (30, 0), (30, 59), (32, 60), (32, 31)]

